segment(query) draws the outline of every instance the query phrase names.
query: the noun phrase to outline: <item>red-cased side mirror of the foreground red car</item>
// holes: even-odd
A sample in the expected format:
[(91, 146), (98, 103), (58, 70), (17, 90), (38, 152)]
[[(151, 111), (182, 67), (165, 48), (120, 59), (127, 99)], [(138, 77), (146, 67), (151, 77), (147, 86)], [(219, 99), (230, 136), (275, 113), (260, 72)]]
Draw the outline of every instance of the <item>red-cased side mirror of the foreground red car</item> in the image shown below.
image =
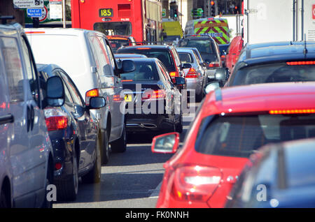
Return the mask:
[(152, 140), (151, 151), (158, 154), (174, 154), (179, 148), (179, 133), (157, 135)]

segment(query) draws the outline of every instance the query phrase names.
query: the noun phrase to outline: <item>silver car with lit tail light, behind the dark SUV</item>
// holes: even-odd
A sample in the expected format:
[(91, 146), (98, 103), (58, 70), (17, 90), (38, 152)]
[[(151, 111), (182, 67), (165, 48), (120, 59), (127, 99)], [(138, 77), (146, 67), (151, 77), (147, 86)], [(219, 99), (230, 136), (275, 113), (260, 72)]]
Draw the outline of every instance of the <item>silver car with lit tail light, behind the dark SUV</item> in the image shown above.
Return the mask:
[(200, 60), (193, 50), (188, 48), (176, 48), (182, 64), (190, 64), (191, 68), (183, 68), (186, 78), (188, 96), (194, 97), (197, 102), (204, 97), (204, 85), (207, 83), (207, 73), (200, 65)]

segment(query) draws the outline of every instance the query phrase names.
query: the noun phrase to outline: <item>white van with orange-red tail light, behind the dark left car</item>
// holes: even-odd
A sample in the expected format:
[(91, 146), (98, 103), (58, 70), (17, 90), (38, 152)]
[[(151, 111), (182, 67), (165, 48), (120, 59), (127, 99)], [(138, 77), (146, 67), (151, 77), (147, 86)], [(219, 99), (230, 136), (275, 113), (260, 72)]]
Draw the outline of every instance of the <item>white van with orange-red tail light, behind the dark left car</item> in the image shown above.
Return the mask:
[[(109, 142), (112, 151), (125, 151), (125, 110), (120, 111), (125, 101), (120, 98), (120, 73), (127, 71), (118, 68), (106, 36), (98, 31), (62, 28), (25, 29), (25, 33), (36, 63), (62, 67), (86, 104), (92, 96), (106, 98), (106, 107), (92, 110), (102, 128), (102, 163), (109, 160)], [(128, 62), (133, 66), (132, 61)]]

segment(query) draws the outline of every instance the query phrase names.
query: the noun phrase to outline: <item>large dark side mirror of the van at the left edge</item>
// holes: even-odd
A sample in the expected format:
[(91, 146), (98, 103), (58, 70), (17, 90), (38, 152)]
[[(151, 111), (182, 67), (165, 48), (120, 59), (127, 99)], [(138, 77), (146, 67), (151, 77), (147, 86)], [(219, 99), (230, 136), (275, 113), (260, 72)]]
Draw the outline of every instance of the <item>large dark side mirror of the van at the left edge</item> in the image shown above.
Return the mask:
[(52, 107), (64, 105), (64, 84), (61, 77), (49, 77), (46, 83), (47, 104)]

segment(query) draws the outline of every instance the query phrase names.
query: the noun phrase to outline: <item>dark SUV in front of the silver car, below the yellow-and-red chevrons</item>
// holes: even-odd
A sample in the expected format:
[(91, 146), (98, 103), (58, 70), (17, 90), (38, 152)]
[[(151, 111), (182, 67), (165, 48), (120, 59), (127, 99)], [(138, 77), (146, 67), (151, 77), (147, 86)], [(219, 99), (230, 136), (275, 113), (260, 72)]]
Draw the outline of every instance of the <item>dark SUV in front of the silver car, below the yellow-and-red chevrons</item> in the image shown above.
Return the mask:
[[(223, 66), (218, 44), (214, 38), (211, 38), (211, 36), (207, 34), (183, 36), (176, 47), (196, 47), (202, 59), (207, 63), (208, 69), (222, 68)], [(211, 73), (209, 74), (211, 75)]]

